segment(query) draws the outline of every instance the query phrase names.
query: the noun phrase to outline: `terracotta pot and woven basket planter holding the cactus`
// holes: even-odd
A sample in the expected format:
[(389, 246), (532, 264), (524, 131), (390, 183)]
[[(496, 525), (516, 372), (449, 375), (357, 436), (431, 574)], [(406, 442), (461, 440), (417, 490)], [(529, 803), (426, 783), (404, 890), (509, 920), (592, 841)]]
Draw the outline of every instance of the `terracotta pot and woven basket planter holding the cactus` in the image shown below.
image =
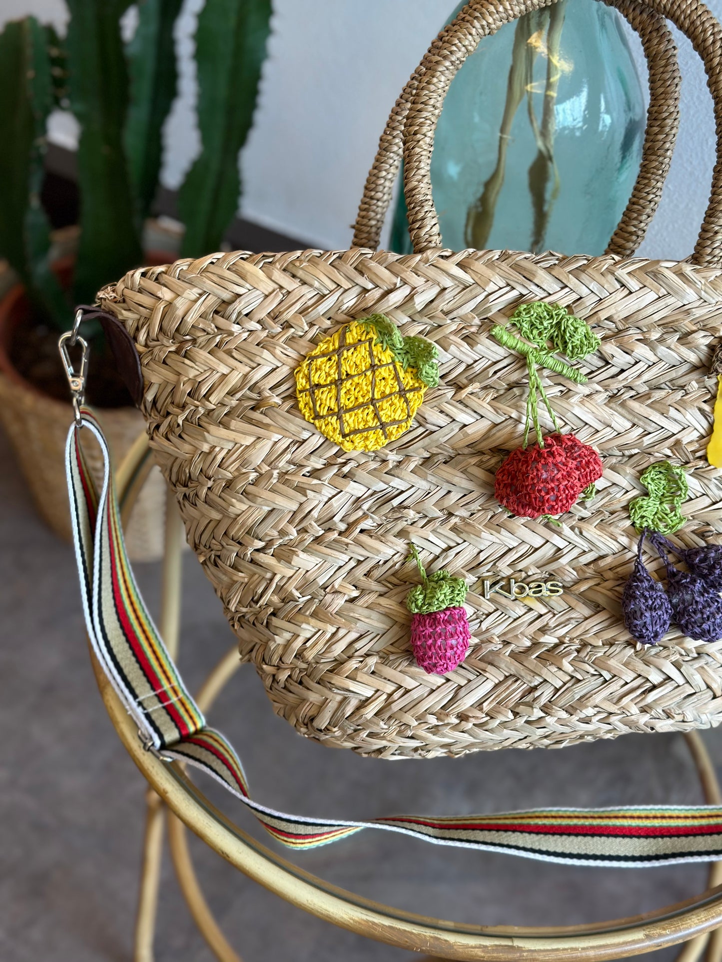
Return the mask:
[[(168, 255), (152, 258), (156, 264), (167, 260)], [(54, 269), (62, 280), (69, 280), (73, 261), (72, 257), (65, 257), (55, 262)], [(30, 304), (22, 285), (14, 284), (9, 289), (6, 285), (6, 292), (0, 298), (0, 422), (13, 445), (40, 517), (57, 535), (69, 541), (64, 447), (73, 411), (69, 398), (67, 402), (59, 401), (40, 392), (13, 366), (13, 334), (27, 320), (29, 312)], [(117, 465), (144, 430), (142, 415), (132, 407), (101, 408), (98, 415)], [(91, 468), (99, 472), (102, 467), (99, 448), (89, 439), (86, 450)], [(135, 561), (152, 561), (162, 555), (165, 496), (161, 472), (153, 468), (126, 532), (129, 553)]]

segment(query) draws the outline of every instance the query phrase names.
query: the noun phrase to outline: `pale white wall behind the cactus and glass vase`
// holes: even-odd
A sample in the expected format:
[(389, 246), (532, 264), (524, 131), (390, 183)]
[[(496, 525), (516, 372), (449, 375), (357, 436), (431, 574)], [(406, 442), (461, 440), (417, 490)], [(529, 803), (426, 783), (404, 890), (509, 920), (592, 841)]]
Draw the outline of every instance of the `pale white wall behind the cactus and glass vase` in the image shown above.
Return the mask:
[[(193, 162), (193, 29), (203, 0), (186, 0), (176, 25), (179, 96), (166, 127), (164, 183), (176, 188)], [(583, 0), (573, 0), (583, 2)], [(273, 0), (270, 57), (260, 109), (242, 159), (242, 213), (320, 247), (346, 247), (386, 115), (454, 0)], [(722, 18), (722, 0), (709, 0)], [(0, 21), (37, 13), (63, 27), (63, 0), (1, 0)], [(662, 204), (640, 254), (690, 253), (709, 196), (714, 127), (704, 71), (680, 40), (680, 139)], [(640, 69), (644, 59), (636, 38)], [(74, 139), (56, 117), (53, 138)]]

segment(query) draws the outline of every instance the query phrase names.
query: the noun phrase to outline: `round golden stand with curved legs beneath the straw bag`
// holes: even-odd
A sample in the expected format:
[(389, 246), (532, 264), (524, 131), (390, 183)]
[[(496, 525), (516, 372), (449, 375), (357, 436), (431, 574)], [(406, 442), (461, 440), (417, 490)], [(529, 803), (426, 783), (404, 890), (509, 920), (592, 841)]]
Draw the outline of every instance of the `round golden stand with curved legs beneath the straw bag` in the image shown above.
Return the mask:
[[(151, 466), (145, 435), (134, 444), (117, 472), (123, 520), (132, 510)], [(161, 634), (173, 657), (178, 644), (181, 546), (183, 530), (173, 498), (168, 494), (166, 552), (163, 568)], [(187, 777), (182, 766), (161, 761), (145, 751), (136, 726), (120, 704), (91, 652), (101, 696), (116, 732), (141, 770), (150, 789), (147, 796), (142, 877), (136, 924), (136, 962), (152, 962), (164, 823), (175, 873), (201, 934), (220, 962), (241, 962), (213, 917), (193, 870), (186, 826), (248, 878), (264, 885), (310, 914), (359, 935), (400, 949), (426, 951), (434, 959), (511, 962), (603, 962), (685, 942), (677, 962), (722, 962), (722, 862), (712, 863), (708, 889), (692, 899), (656, 912), (575, 926), (529, 927), (469, 925), (414, 915), (364, 899), (304, 872), (261, 845), (228, 821)], [(208, 676), (197, 697), (207, 712), (239, 664), (234, 646)], [(709, 804), (722, 803), (714, 767), (700, 736), (686, 735)], [(166, 818), (168, 816), (168, 819)]]

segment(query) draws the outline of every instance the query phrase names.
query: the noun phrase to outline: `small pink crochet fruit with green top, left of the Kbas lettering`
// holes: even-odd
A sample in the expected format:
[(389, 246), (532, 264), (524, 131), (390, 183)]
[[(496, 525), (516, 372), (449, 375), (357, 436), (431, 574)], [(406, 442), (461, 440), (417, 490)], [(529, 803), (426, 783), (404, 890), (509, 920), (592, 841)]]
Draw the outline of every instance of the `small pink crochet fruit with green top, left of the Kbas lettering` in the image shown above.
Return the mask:
[(467, 587), (449, 571), (426, 577), (419, 552), (411, 554), (421, 571), (422, 583), (406, 595), (411, 612), (411, 647), (420, 668), (429, 674), (446, 674), (464, 660), (469, 650), (469, 621), (464, 610)]

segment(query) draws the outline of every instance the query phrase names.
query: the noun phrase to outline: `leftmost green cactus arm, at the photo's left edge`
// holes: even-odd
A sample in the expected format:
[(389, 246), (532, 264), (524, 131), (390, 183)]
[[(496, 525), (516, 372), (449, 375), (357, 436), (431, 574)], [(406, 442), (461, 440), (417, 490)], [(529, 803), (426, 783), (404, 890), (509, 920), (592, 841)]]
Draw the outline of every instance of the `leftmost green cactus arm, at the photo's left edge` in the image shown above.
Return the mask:
[(50, 228), (40, 204), (45, 126), (53, 109), (49, 33), (29, 16), (0, 34), (0, 256), (39, 313), (64, 326), (70, 309), (48, 264)]

